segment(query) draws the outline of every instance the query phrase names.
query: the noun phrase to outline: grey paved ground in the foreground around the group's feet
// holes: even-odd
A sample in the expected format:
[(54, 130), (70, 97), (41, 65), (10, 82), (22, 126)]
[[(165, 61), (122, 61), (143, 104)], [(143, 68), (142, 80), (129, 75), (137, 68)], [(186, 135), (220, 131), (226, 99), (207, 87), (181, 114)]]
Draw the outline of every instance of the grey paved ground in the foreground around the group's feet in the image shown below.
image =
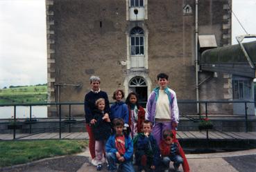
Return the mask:
[[(92, 172), (95, 167), (89, 164), (89, 153), (48, 158), (37, 162), (0, 169), (0, 171), (24, 172)], [(187, 155), (191, 172), (255, 172), (256, 149), (230, 153)], [(105, 172), (105, 167), (102, 172)], [(180, 169), (182, 172), (182, 169)]]

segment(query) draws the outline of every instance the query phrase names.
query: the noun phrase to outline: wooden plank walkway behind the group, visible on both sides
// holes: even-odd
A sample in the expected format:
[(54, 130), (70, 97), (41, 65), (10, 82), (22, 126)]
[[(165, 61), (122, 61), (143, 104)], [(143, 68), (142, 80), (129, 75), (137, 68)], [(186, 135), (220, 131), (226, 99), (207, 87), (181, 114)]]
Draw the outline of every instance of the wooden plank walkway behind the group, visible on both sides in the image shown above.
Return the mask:
[[(210, 139), (216, 140), (256, 140), (256, 132), (219, 132), (209, 131)], [(17, 140), (49, 140), (59, 139), (59, 133), (40, 133), (29, 135), (28, 133), (17, 133)], [(178, 131), (178, 139), (206, 139), (206, 131)], [(62, 139), (83, 140), (89, 139), (88, 133), (61, 133)], [(0, 140), (12, 140), (13, 134), (0, 134)]]

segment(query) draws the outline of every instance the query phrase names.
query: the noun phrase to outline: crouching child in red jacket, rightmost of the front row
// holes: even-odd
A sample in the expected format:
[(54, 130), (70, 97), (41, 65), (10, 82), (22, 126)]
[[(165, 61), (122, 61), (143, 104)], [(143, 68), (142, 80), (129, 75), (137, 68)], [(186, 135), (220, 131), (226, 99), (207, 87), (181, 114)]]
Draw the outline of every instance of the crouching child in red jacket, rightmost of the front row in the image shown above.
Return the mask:
[(162, 155), (162, 162), (167, 167), (165, 171), (169, 171), (169, 163), (172, 161), (175, 171), (178, 171), (180, 164), (182, 164), (183, 171), (189, 172), (189, 164), (182, 147), (176, 139), (176, 131), (165, 130), (163, 138), (164, 140), (160, 143), (160, 151)]

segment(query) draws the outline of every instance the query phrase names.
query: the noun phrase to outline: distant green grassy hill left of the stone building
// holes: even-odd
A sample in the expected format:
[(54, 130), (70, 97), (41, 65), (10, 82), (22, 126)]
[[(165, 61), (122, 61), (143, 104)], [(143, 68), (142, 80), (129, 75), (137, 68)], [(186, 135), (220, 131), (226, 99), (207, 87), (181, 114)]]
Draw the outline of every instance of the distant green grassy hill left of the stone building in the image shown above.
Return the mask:
[(39, 103), (47, 101), (46, 84), (37, 86), (10, 86), (0, 89), (0, 104)]

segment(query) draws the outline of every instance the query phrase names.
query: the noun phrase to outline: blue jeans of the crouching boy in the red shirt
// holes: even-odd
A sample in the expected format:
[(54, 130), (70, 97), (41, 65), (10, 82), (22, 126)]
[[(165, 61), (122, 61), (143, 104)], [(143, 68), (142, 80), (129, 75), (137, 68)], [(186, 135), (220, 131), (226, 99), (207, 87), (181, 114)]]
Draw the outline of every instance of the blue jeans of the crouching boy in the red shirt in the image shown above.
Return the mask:
[(122, 172), (135, 172), (133, 169), (133, 162), (131, 160), (125, 160), (124, 162), (119, 162), (115, 153), (106, 154), (109, 171), (117, 171), (117, 163), (119, 163), (119, 171)]

